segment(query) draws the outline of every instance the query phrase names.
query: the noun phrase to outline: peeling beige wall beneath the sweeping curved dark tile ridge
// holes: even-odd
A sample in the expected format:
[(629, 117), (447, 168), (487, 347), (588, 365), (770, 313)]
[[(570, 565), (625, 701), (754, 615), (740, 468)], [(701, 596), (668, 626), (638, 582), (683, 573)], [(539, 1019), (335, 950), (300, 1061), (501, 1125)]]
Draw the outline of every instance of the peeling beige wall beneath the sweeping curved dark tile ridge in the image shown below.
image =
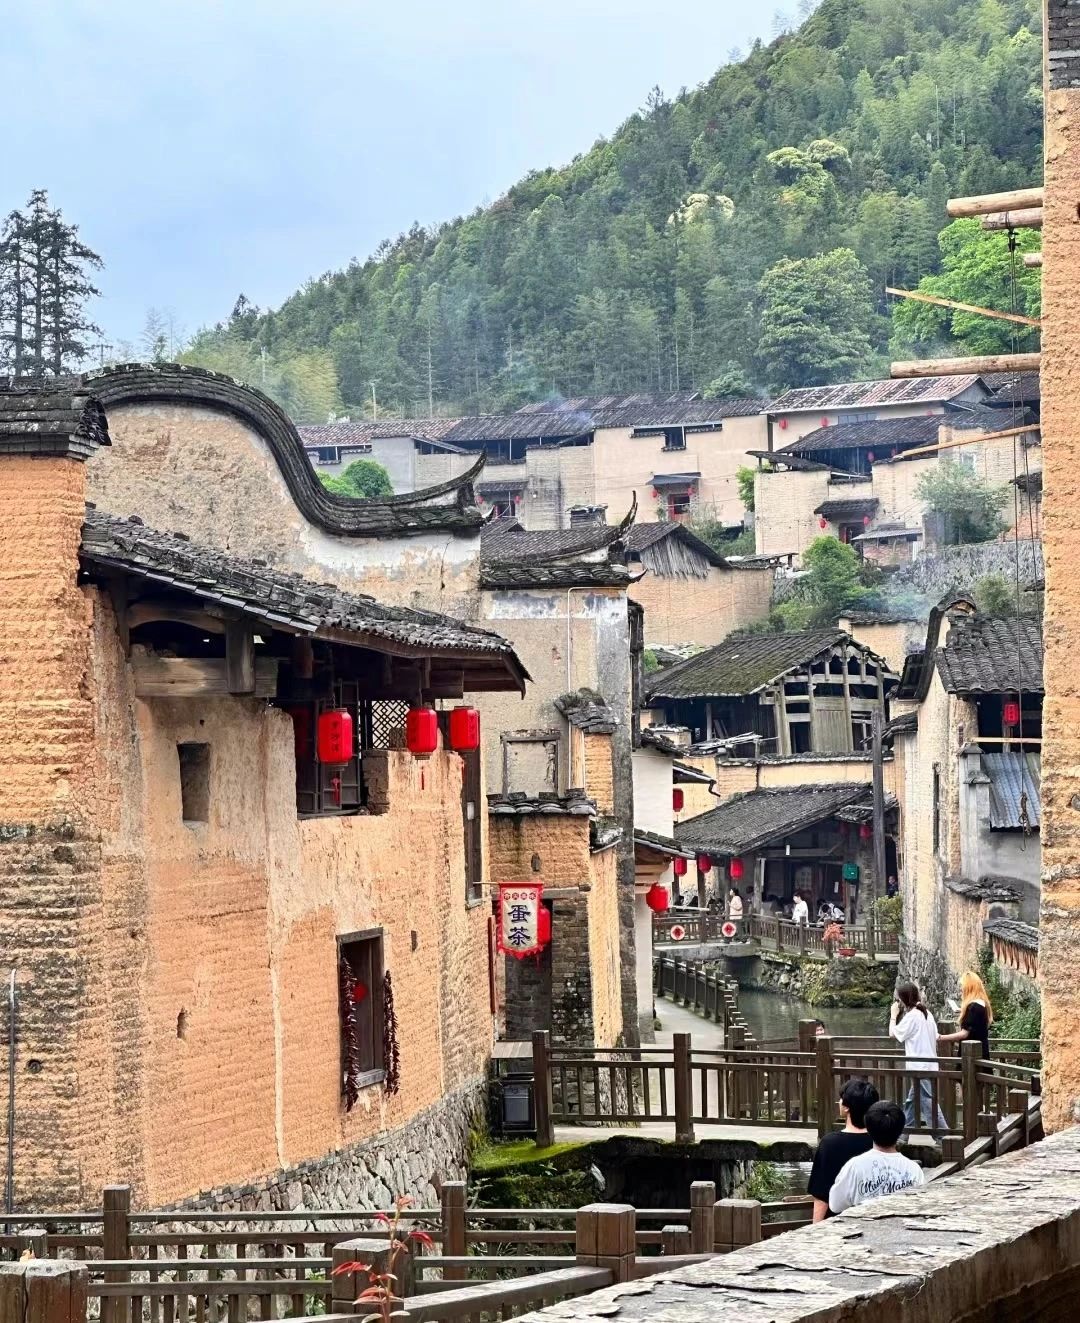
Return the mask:
[(89, 499), (151, 528), (330, 578), (380, 602), (475, 617), (479, 536), (335, 537), (296, 508), (270, 447), (238, 418), (191, 405), (116, 405)]

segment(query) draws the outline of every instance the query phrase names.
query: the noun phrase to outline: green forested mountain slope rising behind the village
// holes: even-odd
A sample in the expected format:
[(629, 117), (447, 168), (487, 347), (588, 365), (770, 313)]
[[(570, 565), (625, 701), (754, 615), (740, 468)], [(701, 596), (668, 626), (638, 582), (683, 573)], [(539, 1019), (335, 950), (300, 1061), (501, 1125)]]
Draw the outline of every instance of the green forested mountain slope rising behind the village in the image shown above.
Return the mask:
[[(241, 300), (188, 357), (318, 419), (369, 411), (373, 381), (380, 413), (426, 414), (867, 374), (889, 343), (884, 286), (942, 271), (946, 198), (1040, 171), (1039, 0), (822, 0), (494, 205), (277, 311)], [(999, 282), (1003, 237), (953, 228), (953, 267), (966, 245)], [(941, 315), (901, 327), (908, 345), (948, 332)]]

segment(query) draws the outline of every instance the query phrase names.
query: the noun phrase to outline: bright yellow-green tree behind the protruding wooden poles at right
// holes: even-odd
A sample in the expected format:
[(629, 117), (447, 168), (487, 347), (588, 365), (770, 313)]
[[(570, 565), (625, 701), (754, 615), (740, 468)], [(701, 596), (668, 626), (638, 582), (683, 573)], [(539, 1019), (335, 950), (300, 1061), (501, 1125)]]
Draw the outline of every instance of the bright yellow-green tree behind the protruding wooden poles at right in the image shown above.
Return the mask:
[[(1040, 307), (1040, 273), (1023, 265), (1022, 254), (1038, 250), (1039, 235), (1019, 230), (1015, 253), (1009, 250), (1009, 235), (987, 233), (977, 220), (953, 221), (938, 235), (941, 275), (928, 275), (919, 282), (920, 294), (932, 294), (956, 303), (970, 303), (997, 312), (1016, 312), (1038, 318)], [(1035, 349), (1039, 332), (1015, 321), (999, 321), (977, 312), (901, 299), (892, 315), (893, 340), (900, 352), (921, 352), (949, 344), (966, 353), (1007, 353)]]

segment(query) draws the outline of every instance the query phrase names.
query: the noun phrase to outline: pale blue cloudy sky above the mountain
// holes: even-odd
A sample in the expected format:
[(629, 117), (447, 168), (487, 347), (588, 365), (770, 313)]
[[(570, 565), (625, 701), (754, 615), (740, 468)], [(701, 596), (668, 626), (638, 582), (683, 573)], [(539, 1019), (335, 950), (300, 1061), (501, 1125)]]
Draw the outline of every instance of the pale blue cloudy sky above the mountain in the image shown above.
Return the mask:
[[(788, 8), (794, 8), (790, 4)], [(0, 0), (0, 213), (46, 188), (110, 341), (274, 307), (770, 38), (746, 0)]]

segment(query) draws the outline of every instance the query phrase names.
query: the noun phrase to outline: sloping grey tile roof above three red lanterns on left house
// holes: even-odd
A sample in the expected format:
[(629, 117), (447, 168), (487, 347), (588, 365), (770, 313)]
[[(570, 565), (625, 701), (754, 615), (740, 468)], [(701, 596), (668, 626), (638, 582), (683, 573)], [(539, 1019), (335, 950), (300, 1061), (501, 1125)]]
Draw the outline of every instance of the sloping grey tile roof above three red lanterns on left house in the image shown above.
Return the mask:
[(390, 643), (418, 655), (479, 659), (506, 671), (507, 688), (520, 689), (528, 679), (511, 644), (491, 630), (434, 611), (384, 606), (332, 583), (316, 583), (262, 561), (159, 533), (138, 519), (115, 519), (87, 509), (81, 561), (87, 573), (123, 570), (289, 631), (335, 639), (355, 635), (352, 642), (357, 647), (376, 651), (380, 644)]

